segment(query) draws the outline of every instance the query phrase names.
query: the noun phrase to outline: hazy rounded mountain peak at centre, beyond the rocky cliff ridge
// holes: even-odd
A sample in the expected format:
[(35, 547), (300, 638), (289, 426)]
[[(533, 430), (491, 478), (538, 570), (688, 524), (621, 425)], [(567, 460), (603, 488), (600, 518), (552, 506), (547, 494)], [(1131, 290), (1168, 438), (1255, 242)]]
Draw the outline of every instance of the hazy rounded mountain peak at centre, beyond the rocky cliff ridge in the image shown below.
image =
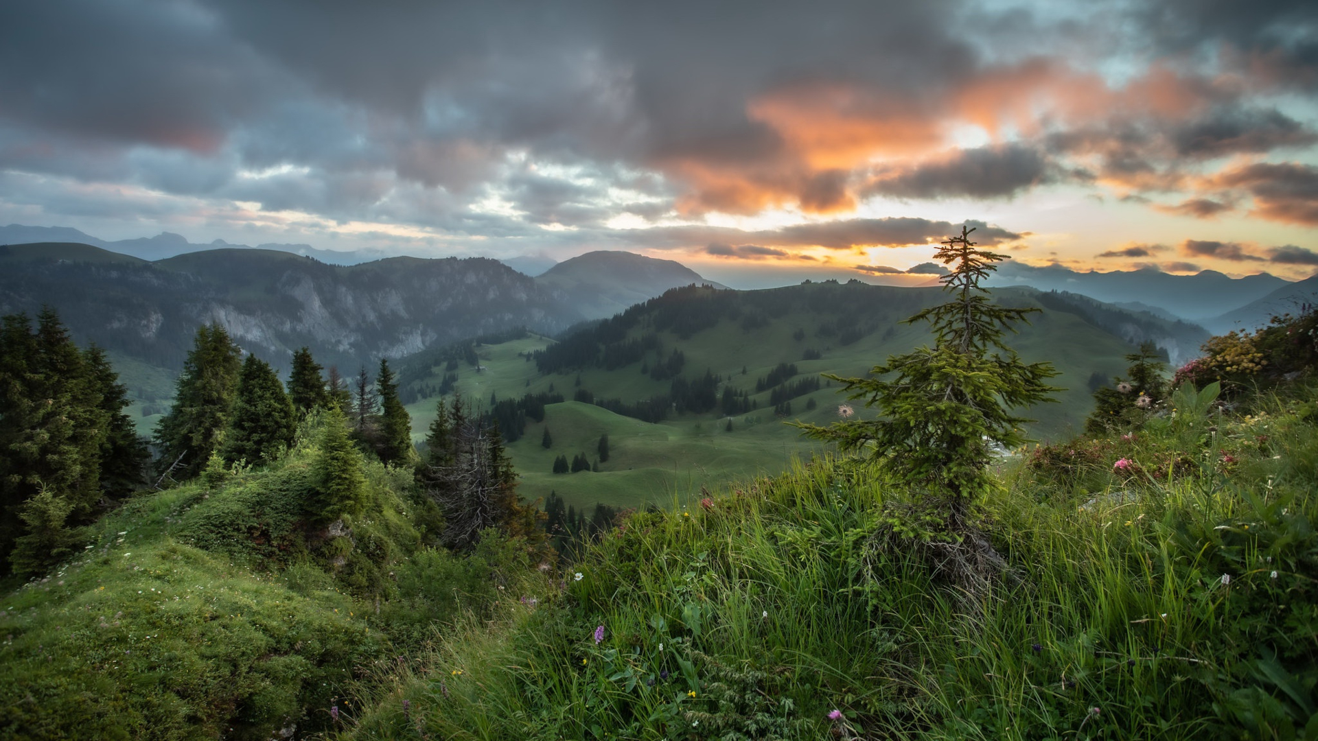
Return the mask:
[(559, 262), (535, 282), (567, 295), (572, 309), (589, 319), (613, 316), (679, 286), (728, 287), (706, 281), (681, 262), (608, 251)]

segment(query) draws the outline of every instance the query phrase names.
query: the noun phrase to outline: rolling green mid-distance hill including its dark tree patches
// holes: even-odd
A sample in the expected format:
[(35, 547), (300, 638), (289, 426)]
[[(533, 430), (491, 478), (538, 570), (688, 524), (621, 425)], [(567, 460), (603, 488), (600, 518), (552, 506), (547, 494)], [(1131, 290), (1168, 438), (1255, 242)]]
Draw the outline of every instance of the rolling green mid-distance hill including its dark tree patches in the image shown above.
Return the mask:
[[(1180, 357), (1198, 348), (1199, 327), (1133, 314), (1085, 297), (1031, 289), (995, 291), (1007, 305), (1044, 309), (1012, 340), (1027, 360), (1050, 360), (1061, 403), (1027, 415), (1045, 439), (1077, 432), (1095, 384), (1126, 369), (1132, 343), (1161, 343)], [(786, 421), (826, 425), (846, 402), (821, 373), (863, 376), (894, 352), (929, 340), (900, 322), (944, 301), (938, 289), (808, 283), (759, 291), (675, 289), (552, 341), (535, 334), (430, 352), (399, 364), (403, 398), (420, 440), (436, 397), (453, 392), (484, 409), (527, 394), (556, 394), (543, 419), (501, 417), (529, 498), (555, 492), (585, 508), (685, 500), (780, 471), (822, 447)], [(680, 359), (675, 360), (675, 359)], [(863, 414), (863, 410), (861, 410)], [(731, 427), (729, 431), (728, 427)], [(542, 446), (548, 429), (551, 447)], [(601, 435), (610, 458), (597, 472), (552, 473), (559, 455), (592, 461)]]

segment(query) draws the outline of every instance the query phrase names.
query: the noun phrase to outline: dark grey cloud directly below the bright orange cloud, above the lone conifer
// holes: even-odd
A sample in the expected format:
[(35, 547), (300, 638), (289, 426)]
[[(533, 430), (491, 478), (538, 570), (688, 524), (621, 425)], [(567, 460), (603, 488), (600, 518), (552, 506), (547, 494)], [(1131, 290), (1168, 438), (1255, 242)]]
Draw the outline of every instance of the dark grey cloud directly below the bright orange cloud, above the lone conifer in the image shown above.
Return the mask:
[(865, 194), (899, 198), (1011, 198), (1056, 179), (1056, 167), (1033, 146), (1010, 144), (958, 150), (953, 157), (879, 177)]

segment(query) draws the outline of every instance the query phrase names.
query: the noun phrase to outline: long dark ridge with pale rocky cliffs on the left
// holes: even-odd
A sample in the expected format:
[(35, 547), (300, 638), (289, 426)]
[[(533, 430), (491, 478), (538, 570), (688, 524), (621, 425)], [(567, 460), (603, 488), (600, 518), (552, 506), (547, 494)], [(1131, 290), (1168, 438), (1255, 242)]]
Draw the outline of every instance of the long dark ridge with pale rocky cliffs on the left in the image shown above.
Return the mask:
[(484, 257), (390, 257), (326, 265), (287, 252), (224, 248), (154, 262), (86, 244), (0, 248), (0, 314), (53, 306), (80, 341), (177, 372), (198, 324), (220, 322), (275, 365), (310, 345), (345, 374), (515, 326), (581, 319), (563, 295)]

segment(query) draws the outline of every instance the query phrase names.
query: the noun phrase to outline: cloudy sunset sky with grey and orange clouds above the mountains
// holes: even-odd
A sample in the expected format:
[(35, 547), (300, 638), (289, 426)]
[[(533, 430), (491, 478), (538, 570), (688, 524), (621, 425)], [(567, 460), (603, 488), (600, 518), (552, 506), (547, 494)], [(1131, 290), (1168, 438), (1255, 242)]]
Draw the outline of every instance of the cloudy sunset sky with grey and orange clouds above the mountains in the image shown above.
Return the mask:
[(1300, 280), (1318, 3), (4, 3), (0, 223), (734, 287), (928, 281), (969, 224), (1032, 265)]

